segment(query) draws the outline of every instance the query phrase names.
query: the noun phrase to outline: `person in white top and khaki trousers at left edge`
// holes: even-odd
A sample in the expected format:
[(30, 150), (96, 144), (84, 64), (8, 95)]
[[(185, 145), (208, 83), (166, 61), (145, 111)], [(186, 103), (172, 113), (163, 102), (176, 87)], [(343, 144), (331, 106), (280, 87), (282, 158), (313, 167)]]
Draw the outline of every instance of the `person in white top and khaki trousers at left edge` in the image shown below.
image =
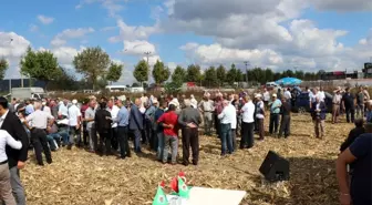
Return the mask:
[(17, 205), (10, 185), (8, 156), (6, 153), (7, 144), (14, 150), (22, 148), (20, 141), (16, 141), (7, 131), (0, 130), (0, 197), (7, 205)]

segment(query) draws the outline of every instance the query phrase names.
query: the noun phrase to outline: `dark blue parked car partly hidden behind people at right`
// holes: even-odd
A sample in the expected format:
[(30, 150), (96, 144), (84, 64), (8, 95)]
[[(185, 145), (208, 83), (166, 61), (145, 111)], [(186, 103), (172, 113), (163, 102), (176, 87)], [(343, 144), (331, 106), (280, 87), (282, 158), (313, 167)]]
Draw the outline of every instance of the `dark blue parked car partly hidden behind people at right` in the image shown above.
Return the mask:
[[(327, 112), (332, 113), (332, 94), (326, 92), (326, 106)], [(292, 101), (292, 112), (306, 113), (310, 112), (310, 98), (308, 92), (301, 92), (297, 95), (296, 100)]]

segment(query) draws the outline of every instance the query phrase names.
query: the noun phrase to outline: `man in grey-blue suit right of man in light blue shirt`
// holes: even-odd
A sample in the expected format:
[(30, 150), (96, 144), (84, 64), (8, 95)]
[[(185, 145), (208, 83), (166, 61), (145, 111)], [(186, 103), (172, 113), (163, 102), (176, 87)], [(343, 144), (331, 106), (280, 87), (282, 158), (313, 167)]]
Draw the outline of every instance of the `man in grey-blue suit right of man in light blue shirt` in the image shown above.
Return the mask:
[(131, 107), (130, 130), (134, 134), (134, 152), (141, 153), (141, 131), (143, 130), (143, 114), (140, 112), (141, 100), (136, 99)]

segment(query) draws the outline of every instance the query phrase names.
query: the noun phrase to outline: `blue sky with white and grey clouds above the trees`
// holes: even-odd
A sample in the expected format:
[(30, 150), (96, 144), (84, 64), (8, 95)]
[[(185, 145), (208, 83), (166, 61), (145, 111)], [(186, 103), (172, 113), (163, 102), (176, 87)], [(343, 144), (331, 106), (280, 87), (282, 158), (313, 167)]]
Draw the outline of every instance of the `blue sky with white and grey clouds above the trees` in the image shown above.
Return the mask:
[(370, 0), (3, 0), (1, 8), (6, 79), (20, 78), (29, 45), (53, 52), (71, 73), (74, 55), (99, 45), (124, 64), (116, 84), (135, 81), (145, 52), (170, 70), (249, 61), (248, 69), (353, 71), (372, 58)]

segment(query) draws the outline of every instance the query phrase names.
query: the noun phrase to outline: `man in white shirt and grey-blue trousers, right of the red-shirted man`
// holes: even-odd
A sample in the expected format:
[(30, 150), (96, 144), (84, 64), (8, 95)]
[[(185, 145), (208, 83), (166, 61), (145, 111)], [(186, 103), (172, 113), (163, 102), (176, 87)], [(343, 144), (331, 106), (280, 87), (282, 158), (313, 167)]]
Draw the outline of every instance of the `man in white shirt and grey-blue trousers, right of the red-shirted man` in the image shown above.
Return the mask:
[(236, 119), (235, 107), (231, 109), (228, 101), (223, 102), (224, 110), (218, 114), (220, 120), (220, 140), (221, 140), (221, 156), (226, 155), (226, 145), (228, 154), (232, 154), (231, 123)]

